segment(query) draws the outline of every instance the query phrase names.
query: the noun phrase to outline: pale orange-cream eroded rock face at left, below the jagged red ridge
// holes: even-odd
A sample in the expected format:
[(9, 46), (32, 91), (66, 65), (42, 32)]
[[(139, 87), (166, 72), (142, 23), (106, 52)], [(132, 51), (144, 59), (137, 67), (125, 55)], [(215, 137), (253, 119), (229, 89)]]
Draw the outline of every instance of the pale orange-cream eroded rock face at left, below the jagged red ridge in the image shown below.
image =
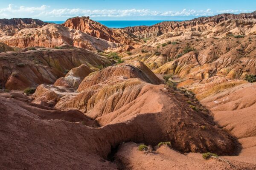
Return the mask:
[(0, 37), (0, 42), (9, 46), (25, 47), (58, 47), (72, 45), (91, 51), (104, 51), (108, 48), (122, 46), (103, 39), (97, 39), (81, 31), (66, 28), (58, 24), (48, 24), (41, 28), (24, 28), (13, 36)]

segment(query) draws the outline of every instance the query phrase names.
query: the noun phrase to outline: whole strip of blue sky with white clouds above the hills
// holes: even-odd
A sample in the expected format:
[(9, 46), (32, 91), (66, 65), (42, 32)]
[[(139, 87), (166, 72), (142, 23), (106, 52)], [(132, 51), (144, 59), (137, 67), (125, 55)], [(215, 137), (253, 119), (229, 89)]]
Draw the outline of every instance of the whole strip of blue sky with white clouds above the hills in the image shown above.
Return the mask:
[(0, 18), (44, 21), (90, 16), (93, 20), (190, 20), (256, 11), (256, 0), (0, 0)]

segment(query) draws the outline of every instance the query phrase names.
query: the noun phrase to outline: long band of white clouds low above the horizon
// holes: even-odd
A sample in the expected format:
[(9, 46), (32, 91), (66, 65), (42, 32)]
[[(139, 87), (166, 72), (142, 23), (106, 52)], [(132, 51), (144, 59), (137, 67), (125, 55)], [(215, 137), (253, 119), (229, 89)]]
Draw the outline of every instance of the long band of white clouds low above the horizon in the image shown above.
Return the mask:
[(211, 16), (220, 13), (239, 13), (239, 12), (251, 12), (241, 10), (223, 10), (223, 11), (212, 11), (211, 9), (206, 10), (193, 10), (183, 9), (182, 11), (152, 11), (148, 9), (103, 9), (103, 10), (88, 10), (81, 8), (61, 8), (52, 9), (50, 6), (42, 5), (39, 7), (26, 7), (26, 6), (14, 6), (9, 4), (6, 8), (0, 8), (0, 17), (38, 17), (38, 18), (50, 18), (50, 17), (75, 17), (75, 16), (90, 16), (90, 17), (133, 17), (133, 16), (164, 16), (164, 17), (175, 17), (175, 16)]

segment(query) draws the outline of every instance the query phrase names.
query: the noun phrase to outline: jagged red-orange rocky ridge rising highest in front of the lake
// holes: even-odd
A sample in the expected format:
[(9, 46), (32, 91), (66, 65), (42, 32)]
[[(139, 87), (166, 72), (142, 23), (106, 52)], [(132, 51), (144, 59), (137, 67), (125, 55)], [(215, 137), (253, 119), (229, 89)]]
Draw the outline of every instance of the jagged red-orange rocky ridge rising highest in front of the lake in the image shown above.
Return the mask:
[(80, 30), (93, 37), (102, 38), (110, 42), (117, 42), (126, 45), (141, 44), (143, 40), (137, 38), (128, 31), (122, 29), (111, 29), (101, 23), (90, 20), (89, 17), (73, 17), (62, 24), (67, 28)]

